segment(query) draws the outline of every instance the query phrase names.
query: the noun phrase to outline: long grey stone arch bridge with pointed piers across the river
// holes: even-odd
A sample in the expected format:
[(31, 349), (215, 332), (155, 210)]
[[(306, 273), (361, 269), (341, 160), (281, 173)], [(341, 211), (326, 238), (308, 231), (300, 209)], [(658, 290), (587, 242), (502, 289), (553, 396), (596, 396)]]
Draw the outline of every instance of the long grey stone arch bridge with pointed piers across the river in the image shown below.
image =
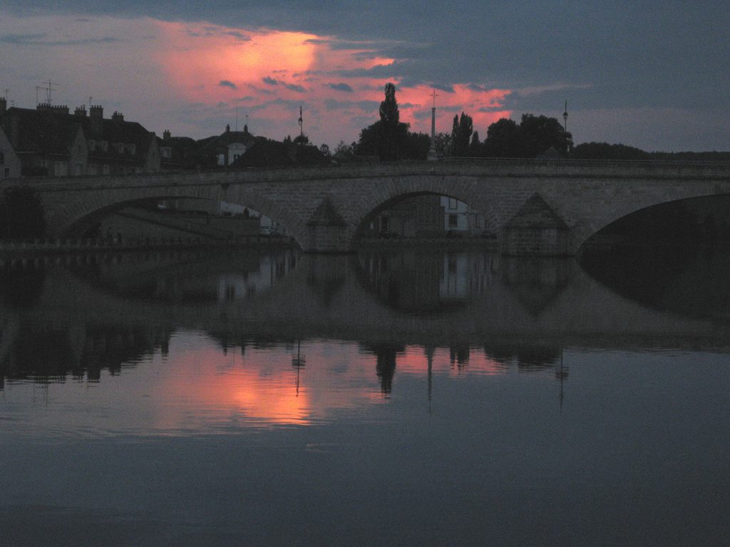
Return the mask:
[(475, 160), (4, 182), (18, 184), (39, 194), (56, 237), (77, 236), (101, 215), (138, 201), (197, 198), (260, 211), (305, 251), (347, 252), (378, 212), (431, 193), (482, 213), (507, 252), (571, 255), (639, 209), (730, 193), (730, 163)]

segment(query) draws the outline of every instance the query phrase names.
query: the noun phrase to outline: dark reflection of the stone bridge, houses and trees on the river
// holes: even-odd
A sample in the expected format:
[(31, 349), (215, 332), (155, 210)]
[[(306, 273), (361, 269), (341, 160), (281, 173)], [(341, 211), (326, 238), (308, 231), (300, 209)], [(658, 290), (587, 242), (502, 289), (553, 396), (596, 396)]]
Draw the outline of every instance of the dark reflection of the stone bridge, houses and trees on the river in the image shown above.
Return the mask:
[[(565, 346), (730, 346), (730, 328), (635, 303), (572, 259), (490, 252), (362, 251), (354, 256), (200, 252), (83, 257), (3, 273), (4, 379), (87, 379), (166, 357), (183, 331), (223, 352), (294, 341), (354, 341), (383, 393), (404, 355), (447, 351), (496, 373), (555, 367)], [(417, 349), (420, 348), (420, 349)], [(408, 365), (412, 367), (411, 365)], [(557, 376), (564, 379), (565, 375)]]

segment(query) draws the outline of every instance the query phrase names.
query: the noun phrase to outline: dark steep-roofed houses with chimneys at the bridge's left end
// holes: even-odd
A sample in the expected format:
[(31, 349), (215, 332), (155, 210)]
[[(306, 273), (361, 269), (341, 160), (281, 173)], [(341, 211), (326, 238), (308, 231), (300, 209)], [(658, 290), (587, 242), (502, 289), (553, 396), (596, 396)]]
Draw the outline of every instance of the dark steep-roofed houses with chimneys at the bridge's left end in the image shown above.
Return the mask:
[(128, 175), (159, 171), (155, 134), (120, 112), (104, 118), (101, 106), (39, 104), (36, 109), (0, 104), (0, 128), (20, 159), (21, 174), (39, 176)]

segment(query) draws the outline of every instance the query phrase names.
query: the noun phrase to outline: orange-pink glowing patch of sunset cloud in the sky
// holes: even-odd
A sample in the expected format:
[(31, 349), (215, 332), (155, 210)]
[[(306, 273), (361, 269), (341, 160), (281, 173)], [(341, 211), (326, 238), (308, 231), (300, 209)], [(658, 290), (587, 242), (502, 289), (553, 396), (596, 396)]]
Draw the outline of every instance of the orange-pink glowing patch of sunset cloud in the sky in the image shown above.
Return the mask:
[[(396, 60), (367, 42), (337, 47), (331, 36), (301, 32), (154, 23), (164, 37), (157, 62), (175, 93), (231, 121), (248, 116), (254, 134), (283, 139), (298, 133), (302, 106), (304, 131), (315, 144), (354, 141), (377, 121), (387, 82), (399, 88), (401, 121), (411, 131), (431, 131), (433, 88), (400, 86)], [(372, 77), (374, 67), (393, 76)], [(502, 106), (510, 90), (457, 84), (437, 93), (437, 131), (450, 133), (453, 115), (464, 111), (483, 139), (488, 125), (511, 114)]]

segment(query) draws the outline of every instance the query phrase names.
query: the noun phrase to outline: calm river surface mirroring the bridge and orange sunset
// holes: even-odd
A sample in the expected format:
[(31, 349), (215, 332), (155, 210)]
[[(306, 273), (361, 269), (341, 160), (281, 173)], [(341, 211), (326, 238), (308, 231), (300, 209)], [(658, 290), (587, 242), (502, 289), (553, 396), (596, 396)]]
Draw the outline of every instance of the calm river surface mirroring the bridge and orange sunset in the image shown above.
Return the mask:
[(726, 545), (726, 263), (6, 263), (0, 545)]

